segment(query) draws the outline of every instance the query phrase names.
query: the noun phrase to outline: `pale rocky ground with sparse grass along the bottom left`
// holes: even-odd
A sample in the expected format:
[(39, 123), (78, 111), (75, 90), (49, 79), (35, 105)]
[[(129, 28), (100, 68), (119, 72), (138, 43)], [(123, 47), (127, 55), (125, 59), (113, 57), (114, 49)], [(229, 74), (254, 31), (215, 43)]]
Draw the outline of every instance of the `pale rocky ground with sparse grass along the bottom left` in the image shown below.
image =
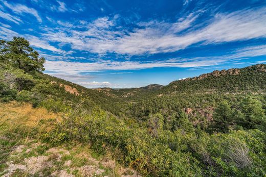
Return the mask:
[(0, 154), (6, 159), (0, 168), (0, 176), (3, 177), (140, 176), (134, 170), (119, 167), (114, 160), (96, 159), (82, 149), (49, 148), (45, 143), (34, 141), (10, 146), (12, 140), (0, 138)]

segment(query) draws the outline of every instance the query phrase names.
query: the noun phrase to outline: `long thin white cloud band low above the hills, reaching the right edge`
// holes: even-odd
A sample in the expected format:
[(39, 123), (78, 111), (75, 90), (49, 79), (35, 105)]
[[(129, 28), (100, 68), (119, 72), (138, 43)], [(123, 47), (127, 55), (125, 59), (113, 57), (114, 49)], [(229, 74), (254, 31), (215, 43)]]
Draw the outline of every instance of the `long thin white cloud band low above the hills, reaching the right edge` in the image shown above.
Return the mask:
[[(66, 61), (47, 61), (45, 67), (49, 71), (68, 73), (68, 74), (82, 74), (82, 72), (90, 71), (104, 71), (104, 70), (136, 70), (145, 68), (158, 67), (183, 67), (195, 68), (206, 66), (218, 66), (220, 64), (235, 63), (247, 57), (256, 57), (266, 55), (266, 45), (250, 46), (236, 50), (235, 53), (224, 56), (209, 56), (209, 57), (195, 57), (187, 59), (169, 59), (156, 60), (149, 62), (140, 61), (98, 61), (93, 63), (81, 62), (66, 62)], [(63, 57), (62, 57), (63, 58)], [(114, 72), (124, 73), (124, 72)]]

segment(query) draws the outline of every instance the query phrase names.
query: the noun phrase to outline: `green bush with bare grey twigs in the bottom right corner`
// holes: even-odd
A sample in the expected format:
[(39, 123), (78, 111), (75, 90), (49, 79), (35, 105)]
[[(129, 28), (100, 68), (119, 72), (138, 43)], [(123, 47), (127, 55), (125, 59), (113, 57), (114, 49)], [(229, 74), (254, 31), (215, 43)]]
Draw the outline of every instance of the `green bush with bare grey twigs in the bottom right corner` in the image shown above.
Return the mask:
[(258, 130), (203, 133), (191, 141), (191, 150), (206, 165), (208, 175), (263, 176), (266, 172), (264, 136)]

